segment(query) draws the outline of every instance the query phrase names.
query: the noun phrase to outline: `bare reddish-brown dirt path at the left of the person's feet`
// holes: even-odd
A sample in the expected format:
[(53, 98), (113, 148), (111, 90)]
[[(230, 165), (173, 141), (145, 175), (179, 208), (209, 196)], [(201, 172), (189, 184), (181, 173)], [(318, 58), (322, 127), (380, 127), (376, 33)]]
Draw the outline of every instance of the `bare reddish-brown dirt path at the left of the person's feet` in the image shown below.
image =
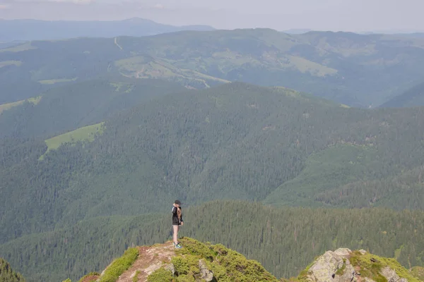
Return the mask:
[(165, 263), (170, 263), (175, 255), (175, 248), (172, 242), (165, 244), (139, 247), (139, 257), (136, 262), (121, 276), (117, 282), (133, 282), (133, 277), (139, 271), (139, 282), (146, 282), (147, 276), (159, 269)]

